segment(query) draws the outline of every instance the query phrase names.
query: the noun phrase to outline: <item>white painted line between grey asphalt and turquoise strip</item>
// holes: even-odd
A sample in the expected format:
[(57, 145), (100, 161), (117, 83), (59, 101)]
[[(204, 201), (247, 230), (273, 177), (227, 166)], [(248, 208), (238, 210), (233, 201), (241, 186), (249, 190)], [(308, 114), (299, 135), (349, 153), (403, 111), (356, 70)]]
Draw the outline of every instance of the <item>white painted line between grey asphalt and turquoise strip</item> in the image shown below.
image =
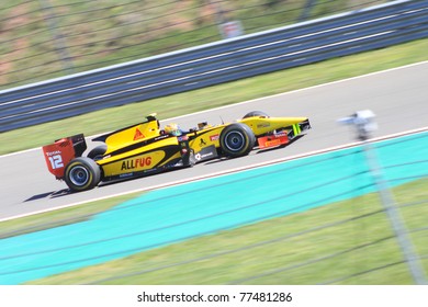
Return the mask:
[[(382, 141), (382, 140), (385, 140), (385, 139), (392, 139), (392, 138), (396, 138), (396, 137), (402, 137), (402, 136), (413, 135), (413, 134), (419, 134), (419, 133), (425, 133), (425, 132), (428, 132), (428, 126), (423, 127), (423, 128), (418, 128), (418, 129), (412, 129), (412, 130), (407, 130), (407, 132), (402, 132), (402, 133), (396, 133), (396, 134), (391, 134), (391, 135), (386, 135), (386, 136), (372, 138), (372, 139), (370, 139), (370, 143), (378, 143), (378, 141)], [(250, 166), (245, 166), (245, 167), (240, 167), (240, 168), (229, 169), (229, 170), (226, 170), (226, 171), (219, 171), (219, 172), (204, 174), (204, 175), (198, 175), (198, 177), (193, 177), (193, 178), (189, 178), (189, 179), (184, 179), (184, 180), (172, 181), (172, 182), (168, 182), (168, 183), (164, 183), (164, 184), (146, 186), (146, 187), (142, 187), (142, 189), (136, 189), (136, 190), (132, 190), (132, 191), (126, 191), (126, 192), (122, 192), (122, 193), (116, 193), (116, 194), (112, 194), (112, 195), (97, 197), (97, 198), (92, 198), (92, 200), (81, 201), (81, 202), (77, 202), (77, 203), (72, 203), (72, 204), (68, 204), (68, 205), (64, 205), (64, 206), (59, 206), (59, 207), (55, 207), (55, 208), (48, 208), (48, 209), (43, 209), (43, 211), (38, 211), (38, 212), (33, 212), (33, 213), (27, 213), (27, 214), (12, 216), (12, 217), (7, 217), (7, 218), (3, 218), (3, 219), (0, 219), (0, 223), (1, 221), (16, 219), (16, 218), (21, 218), (21, 217), (27, 217), (27, 216), (32, 216), (32, 215), (36, 215), (36, 214), (48, 213), (48, 212), (53, 212), (53, 211), (57, 211), (57, 209), (74, 207), (74, 206), (88, 204), (88, 203), (92, 203), (92, 202), (97, 202), (97, 201), (103, 201), (103, 200), (108, 200), (108, 198), (112, 198), (112, 197), (123, 196), (123, 195), (126, 195), (126, 194), (132, 194), (132, 193), (137, 193), (137, 192), (147, 192), (147, 191), (159, 190), (159, 189), (166, 189), (166, 187), (170, 187), (170, 186), (174, 186), (174, 185), (185, 184), (185, 183), (189, 183), (189, 182), (194, 182), (194, 181), (207, 180), (207, 179), (212, 179), (212, 178), (216, 178), (216, 177), (228, 175), (230, 173), (237, 173), (237, 172), (241, 172), (241, 171), (246, 171), (246, 170), (250, 170), (250, 169), (262, 168), (262, 167), (277, 164), (277, 163), (282, 163), (282, 162), (286, 162), (286, 161), (291, 161), (291, 160), (300, 160), (300, 159), (304, 159), (304, 158), (307, 158), (307, 157), (311, 157), (311, 156), (322, 155), (322, 154), (331, 152), (331, 151), (336, 151), (336, 150), (340, 150), (340, 149), (352, 148), (352, 147), (356, 147), (356, 146), (359, 146), (359, 145), (362, 145), (362, 144), (364, 144), (364, 143), (363, 141), (354, 141), (354, 143), (349, 143), (349, 144), (339, 145), (339, 146), (335, 146), (335, 147), (328, 147), (328, 148), (325, 148), (325, 149), (318, 149), (318, 150), (309, 151), (309, 152), (305, 152), (305, 154), (300, 154), (300, 155), (295, 155), (295, 156), (291, 156), (291, 157), (280, 158), (280, 159), (275, 159), (275, 160), (271, 160), (271, 161), (259, 162), (259, 163), (255, 163), (255, 164), (250, 164)]]

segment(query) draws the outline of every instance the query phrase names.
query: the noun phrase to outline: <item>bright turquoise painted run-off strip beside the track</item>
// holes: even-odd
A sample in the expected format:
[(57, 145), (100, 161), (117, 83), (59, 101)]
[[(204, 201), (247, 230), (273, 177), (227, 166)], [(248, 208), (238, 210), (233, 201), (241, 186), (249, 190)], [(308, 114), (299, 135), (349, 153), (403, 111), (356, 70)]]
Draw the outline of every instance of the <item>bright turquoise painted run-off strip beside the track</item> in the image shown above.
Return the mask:
[[(427, 177), (428, 133), (373, 146), (391, 186)], [(286, 148), (279, 150), (286, 155)], [(0, 284), (42, 278), (373, 191), (361, 147), (157, 190), (87, 221), (0, 240)]]

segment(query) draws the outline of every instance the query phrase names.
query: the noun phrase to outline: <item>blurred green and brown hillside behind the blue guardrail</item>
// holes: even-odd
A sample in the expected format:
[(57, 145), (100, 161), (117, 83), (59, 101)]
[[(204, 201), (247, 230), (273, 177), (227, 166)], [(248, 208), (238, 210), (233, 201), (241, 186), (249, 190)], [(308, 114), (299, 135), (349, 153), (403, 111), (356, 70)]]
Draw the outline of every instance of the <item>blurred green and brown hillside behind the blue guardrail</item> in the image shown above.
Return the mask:
[(16, 0), (0, 3), (0, 89), (385, 0)]

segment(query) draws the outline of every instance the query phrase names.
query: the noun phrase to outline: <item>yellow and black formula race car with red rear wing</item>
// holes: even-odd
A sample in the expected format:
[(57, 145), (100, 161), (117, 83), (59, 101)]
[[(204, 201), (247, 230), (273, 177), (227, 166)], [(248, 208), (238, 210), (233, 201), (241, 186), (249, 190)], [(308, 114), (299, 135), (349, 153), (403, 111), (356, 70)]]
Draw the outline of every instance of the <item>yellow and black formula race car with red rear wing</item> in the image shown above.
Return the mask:
[(47, 168), (65, 180), (71, 191), (85, 191), (101, 181), (136, 178), (173, 168), (192, 167), (217, 157), (236, 158), (251, 149), (284, 146), (311, 128), (307, 117), (269, 117), (255, 111), (222, 125), (200, 123), (181, 130), (177, 125), (160, 128), (156, 114), (147, 121), (94, 138), (102, 141), (87, 149), (83, 134), (43, 147)]

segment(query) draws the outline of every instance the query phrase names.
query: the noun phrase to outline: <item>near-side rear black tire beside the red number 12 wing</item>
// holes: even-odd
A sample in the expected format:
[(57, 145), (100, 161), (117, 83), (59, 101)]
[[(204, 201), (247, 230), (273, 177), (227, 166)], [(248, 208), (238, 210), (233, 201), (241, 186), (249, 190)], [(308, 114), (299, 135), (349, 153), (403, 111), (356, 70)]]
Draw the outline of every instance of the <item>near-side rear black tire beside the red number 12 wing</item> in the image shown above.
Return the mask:
[(64, 180), (75, 192), (91, 190), (101, 180), (100, 166), (87, 157), (72, 159), (65, 169)]

